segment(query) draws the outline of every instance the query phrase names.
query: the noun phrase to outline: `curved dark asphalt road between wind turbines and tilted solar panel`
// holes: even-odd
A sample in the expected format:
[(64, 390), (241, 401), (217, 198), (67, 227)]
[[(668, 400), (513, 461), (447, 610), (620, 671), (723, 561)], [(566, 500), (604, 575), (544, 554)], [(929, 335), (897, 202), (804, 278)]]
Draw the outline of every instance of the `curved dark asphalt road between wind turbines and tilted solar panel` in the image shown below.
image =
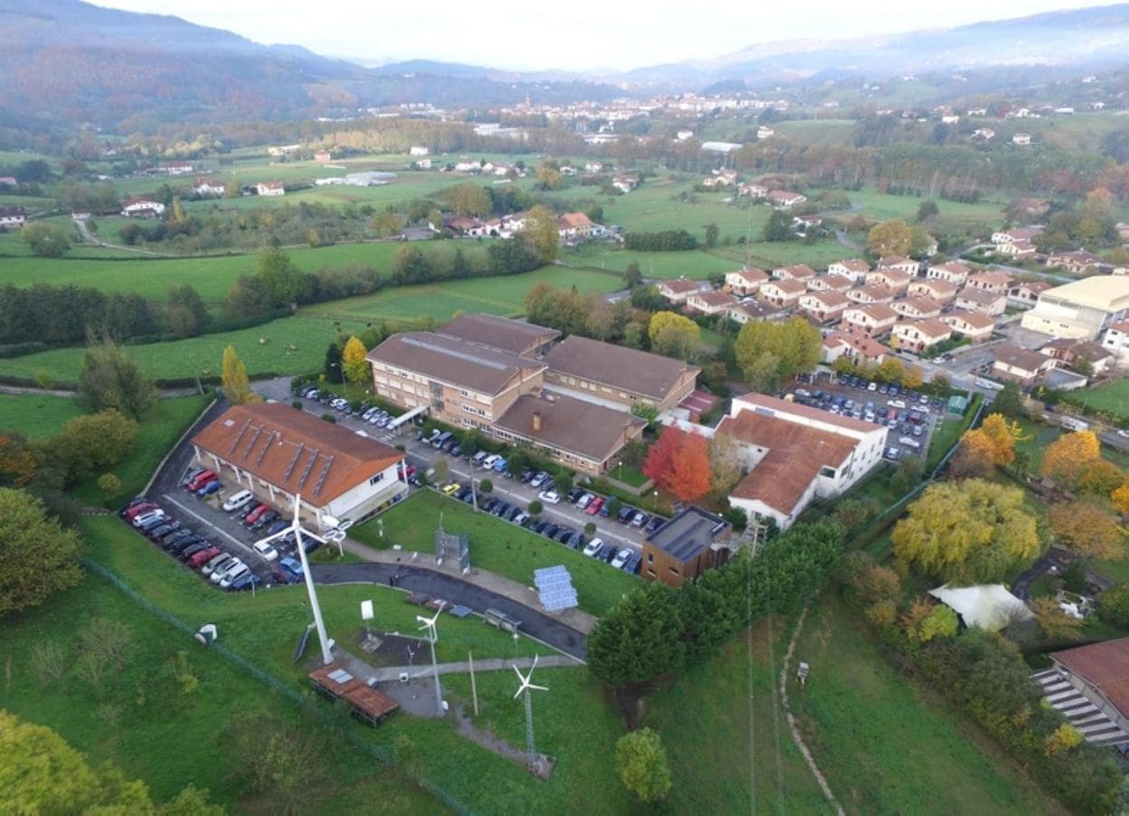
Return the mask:
[[(586, 639), (575, 629), (564, 625), (548, 615), (528, 606), (523, 606), (501, 595), (461, 581), (452, 576), (445, 576), (431, 570), (423, 570), (408, 564), (310, 564), (310, 573), (317, 584), (384, 584), (397, 576), (396, 587), (413, 593), (422, 593), (432, 598), (440, 598), (455, 604), (462, 604), (475, 612), (500, 609), (522, 622), (522, 632), (536, 638), (549, 646), (572, 657), (584, 659)], [(485, 624), (483, 624), (485, 625)]]

